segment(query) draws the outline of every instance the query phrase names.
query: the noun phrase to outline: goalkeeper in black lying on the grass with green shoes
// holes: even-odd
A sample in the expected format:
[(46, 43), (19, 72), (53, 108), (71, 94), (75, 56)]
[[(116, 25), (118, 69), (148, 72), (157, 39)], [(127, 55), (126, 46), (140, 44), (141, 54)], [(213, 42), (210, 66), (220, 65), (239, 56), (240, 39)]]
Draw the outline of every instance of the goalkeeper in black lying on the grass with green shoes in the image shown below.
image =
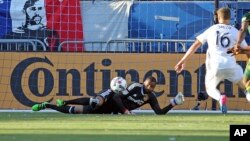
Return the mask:
[[(78, 98), (69, 101), (57, 100), (57, 105), (48, 102), (35, 104), (33, 111), (40, 111), (45, 108), (51, 108), (63, 113), (72, 114), (131, 114), (131, 110), (139, 108), (149, 103), (156, 114), (166, 114), (175, 105), (184, 102), (184, 96), (178, 93), (175, 98), (170, 100), (170, 104), (161, 109), (153, 90), (156, 86), (156, 79), (148, 77), (143, 84), (132, 83), (122, 93), (116, 94), (111, 89), (101, 96), (105, 98)], [(77, 104), (77, 106), (68, 106), (68, 104)], [(94, 106), (93, 106), (94, 105)]]

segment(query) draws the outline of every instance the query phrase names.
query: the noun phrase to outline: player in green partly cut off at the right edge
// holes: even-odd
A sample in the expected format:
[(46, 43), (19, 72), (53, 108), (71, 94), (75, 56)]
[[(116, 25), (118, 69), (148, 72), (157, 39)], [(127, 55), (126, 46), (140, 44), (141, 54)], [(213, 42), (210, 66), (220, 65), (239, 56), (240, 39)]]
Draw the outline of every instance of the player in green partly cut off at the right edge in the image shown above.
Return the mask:
[[(237, 55), (239, 53), (247, 54), (248, 58), (250, 57), (250, 46), (247, 48), (241, 48), (241, 43), (246, 37), (246, 32), (250, 33), (250, 12), (246, 13), (241, 19), (241, 28), (238, 32), (237, 43), (235, 47), (229, 50), (229, 53)], [(247, 66), (244, 71), (243, 83), (246, 87), (246, 99), (250, 102), (250, 60), (248, 59)]]

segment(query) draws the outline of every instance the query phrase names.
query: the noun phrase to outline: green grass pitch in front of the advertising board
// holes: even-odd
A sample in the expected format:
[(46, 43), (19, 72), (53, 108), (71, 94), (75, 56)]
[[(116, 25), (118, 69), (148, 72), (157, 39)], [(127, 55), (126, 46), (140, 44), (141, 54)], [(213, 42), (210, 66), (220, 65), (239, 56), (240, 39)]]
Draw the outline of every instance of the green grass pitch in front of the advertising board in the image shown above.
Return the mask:
[(249, 115), (0, 113), (0, 141), (229, 141)]

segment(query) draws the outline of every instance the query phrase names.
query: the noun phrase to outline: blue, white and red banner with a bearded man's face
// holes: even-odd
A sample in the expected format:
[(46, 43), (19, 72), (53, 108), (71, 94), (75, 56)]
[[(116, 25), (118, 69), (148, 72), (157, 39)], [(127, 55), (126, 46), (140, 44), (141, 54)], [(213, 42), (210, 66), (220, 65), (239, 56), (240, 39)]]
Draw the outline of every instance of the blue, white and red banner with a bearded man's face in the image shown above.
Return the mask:
[[(38, 39), (49, 51), (63, 41), (84, 39), (79, 0), (3, 0), (0, 9), (1, 39)], [(84, 47), (62, 47), (66, 50)]]

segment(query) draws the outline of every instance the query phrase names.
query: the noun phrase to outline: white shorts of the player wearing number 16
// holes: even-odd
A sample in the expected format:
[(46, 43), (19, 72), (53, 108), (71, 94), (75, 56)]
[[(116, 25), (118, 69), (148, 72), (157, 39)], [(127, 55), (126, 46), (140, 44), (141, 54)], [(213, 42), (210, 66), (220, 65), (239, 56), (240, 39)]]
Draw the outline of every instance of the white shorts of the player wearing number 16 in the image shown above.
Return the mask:
[(243, 69), (240, 65), (235, 65), (233, 68), (227, 69), (206, 69), (205, 85), (206, 87), (216, 87), (225, 79), (236, 84), (243, 78)]

